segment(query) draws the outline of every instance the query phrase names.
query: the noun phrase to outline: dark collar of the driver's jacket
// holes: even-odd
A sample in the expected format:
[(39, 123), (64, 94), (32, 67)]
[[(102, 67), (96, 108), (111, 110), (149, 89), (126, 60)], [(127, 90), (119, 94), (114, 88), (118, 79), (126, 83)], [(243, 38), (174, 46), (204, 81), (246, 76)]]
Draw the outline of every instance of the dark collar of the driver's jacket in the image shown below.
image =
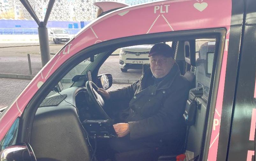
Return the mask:
[[(169, 88), (172, 85), (172, 82), (174, 81), (174, 79), (179, 75), (180, 75), (179, 65), (177, 63), (174, 63), (172, 66), (172, 69), (165, 76), (164, 80), (162, 80), (158, 84), (157, 90)], [(147, 76), (146, 78), (153, 76), (152, 71), (150, 69), (150, 64), (143, 64), (142, 83), (144, 82), (143, 80), (144, 76)]]

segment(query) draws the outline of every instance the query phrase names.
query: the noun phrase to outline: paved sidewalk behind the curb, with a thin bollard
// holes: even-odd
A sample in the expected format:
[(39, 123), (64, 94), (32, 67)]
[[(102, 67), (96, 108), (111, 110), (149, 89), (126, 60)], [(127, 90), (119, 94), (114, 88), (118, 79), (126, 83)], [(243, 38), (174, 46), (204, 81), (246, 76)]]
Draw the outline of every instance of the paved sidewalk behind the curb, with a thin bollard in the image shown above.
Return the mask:
[[(27, 54), (4, 55), (0, 52), (0, 77), (32, 79), (42, 68), (41, 57), (39, 54), (31, 54), (32, 73), (29, 74)], [(53, 57), (53, 55), (51, 55)], [(71, 82), (74, 75), (81, 74), (84, 71), (84, 65), (80, 63), (72, 69), (63, 79), (63, 83)], [(142, 74), (142, 70), (128, 70), (121, 72), (119, 68), (119, 56), (109, 57), (99, 69), (99, 74), (111, 73), (114, 84), (132, 84), (137, 81)]]

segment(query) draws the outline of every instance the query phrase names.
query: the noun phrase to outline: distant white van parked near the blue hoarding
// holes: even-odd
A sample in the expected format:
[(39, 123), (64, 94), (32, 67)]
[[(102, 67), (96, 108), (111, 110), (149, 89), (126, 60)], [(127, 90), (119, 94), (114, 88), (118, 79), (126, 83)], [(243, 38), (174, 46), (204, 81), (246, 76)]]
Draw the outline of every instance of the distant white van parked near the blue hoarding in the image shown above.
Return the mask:
[(70, 40), (67, 31), (61, 28), (50, 28), (48, 31), (48, 37), (49, 41), (54, 42), (54, 44), (66, 43)]

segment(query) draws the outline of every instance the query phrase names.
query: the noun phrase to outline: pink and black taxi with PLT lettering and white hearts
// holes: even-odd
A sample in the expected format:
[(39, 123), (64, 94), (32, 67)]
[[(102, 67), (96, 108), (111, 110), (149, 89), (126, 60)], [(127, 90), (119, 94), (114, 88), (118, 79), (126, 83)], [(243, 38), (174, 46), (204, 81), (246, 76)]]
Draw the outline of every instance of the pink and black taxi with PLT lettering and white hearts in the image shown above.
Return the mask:
[[(191, 89), (186, 107), (177, 107), (184, 113), (159, 115), (184, 117), (187, 138), (180, 153), (185, 160), (255, 160), (255, 6), (255, 0), (166, 0), (115, 11), (110, 7), (112, 12), (64, 45), (0, 115), (0, 160), (92, 161), (105, 156), (108, 147), (97, 151), (102, 148), (97, 142), (116, 135), (95, 90), (111, 87), (113, 79), (109, 73), (98, 75), (100, 66), (116, 49), (166, 41), (172, 41), (175, 61)], [(200, 39), (208, 42), (196, 44)], [(81, 75), (61, 90), (58, 82), (81, 65)], [(51, 91), (57, 92), (49, 96)], [(176, 161), (180, 153), (167, 149), (160, 155), (164, 143), (159, 140), (159, 148), (141, 155), (151, 157), (147, 161)]]

